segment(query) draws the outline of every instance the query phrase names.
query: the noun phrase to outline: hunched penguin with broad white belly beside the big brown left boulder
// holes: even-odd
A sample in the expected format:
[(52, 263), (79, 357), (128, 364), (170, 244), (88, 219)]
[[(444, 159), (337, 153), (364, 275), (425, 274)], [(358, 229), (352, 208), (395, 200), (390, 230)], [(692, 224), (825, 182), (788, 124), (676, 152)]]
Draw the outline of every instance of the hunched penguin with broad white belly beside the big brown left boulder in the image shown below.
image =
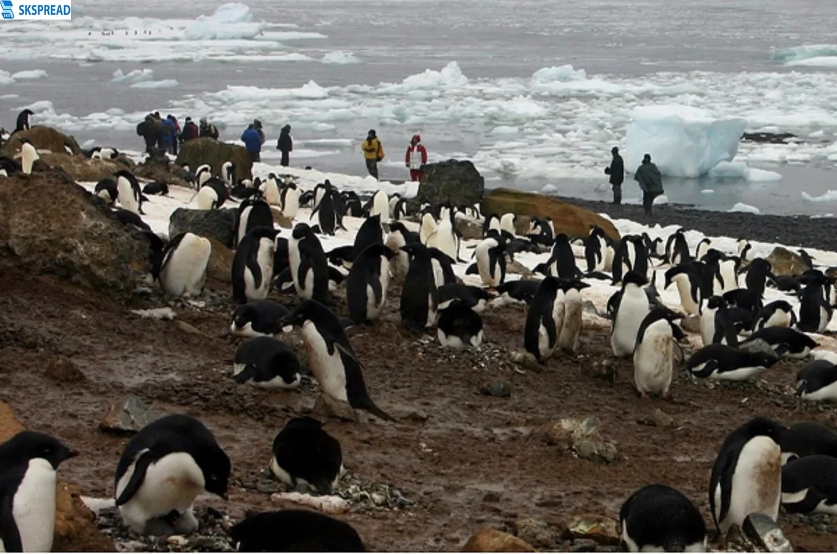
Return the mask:
[(212, 255), (209, 239), (180, 233), (162, 251), (160, 286), (167, 295), (191, 298), (203, 292)]

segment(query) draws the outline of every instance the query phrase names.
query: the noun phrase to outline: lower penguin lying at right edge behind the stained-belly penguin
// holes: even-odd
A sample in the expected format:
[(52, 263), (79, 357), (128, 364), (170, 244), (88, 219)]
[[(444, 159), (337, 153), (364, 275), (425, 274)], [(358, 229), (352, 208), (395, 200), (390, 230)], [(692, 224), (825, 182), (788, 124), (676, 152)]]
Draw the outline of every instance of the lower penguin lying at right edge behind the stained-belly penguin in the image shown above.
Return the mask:
[(782, 507), (789, 514), (837, 515), (837, 458), (814, 455), (782, 468)]

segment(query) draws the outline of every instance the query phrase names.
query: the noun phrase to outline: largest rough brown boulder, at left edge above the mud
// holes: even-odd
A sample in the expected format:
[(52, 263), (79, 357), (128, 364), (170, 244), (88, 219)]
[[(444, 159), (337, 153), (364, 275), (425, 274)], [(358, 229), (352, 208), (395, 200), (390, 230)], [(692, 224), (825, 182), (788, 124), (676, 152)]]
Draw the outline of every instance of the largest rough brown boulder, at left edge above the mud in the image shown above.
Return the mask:
[(148, 243), (109, 208), (58, 174), (15, 175), (0, 186), (0, 265), (58, 274), (117, 299), (147, 273)]

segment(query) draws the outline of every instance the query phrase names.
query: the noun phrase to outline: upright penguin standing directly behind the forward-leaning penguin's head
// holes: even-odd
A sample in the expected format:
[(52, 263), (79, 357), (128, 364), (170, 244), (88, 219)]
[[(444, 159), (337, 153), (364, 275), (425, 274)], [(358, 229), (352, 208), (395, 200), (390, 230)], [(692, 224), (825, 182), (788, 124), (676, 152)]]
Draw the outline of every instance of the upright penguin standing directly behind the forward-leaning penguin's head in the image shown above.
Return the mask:
[(328, 260), (320, 239), (306, 223), (297, 223), (288, 241), (290, 275), (303, 300), (329, 301)]

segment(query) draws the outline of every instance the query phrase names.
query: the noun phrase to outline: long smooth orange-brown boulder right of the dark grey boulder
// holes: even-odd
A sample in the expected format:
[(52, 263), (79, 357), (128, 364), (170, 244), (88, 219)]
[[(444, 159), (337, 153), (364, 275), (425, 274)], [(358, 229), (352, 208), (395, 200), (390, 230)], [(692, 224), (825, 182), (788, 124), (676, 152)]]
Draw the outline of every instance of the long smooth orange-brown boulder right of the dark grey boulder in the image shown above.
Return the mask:
[(557, 198), (511, 188), (495, 188), (480, 203), (483, 215), (514, 213), (518, 216), (552, 218), (556, 233), (586, 237), (593, 225), (601, 227), (611, 239), (619, 240), (619, 231), (606, 218), (588, 209), (562, 202)]

